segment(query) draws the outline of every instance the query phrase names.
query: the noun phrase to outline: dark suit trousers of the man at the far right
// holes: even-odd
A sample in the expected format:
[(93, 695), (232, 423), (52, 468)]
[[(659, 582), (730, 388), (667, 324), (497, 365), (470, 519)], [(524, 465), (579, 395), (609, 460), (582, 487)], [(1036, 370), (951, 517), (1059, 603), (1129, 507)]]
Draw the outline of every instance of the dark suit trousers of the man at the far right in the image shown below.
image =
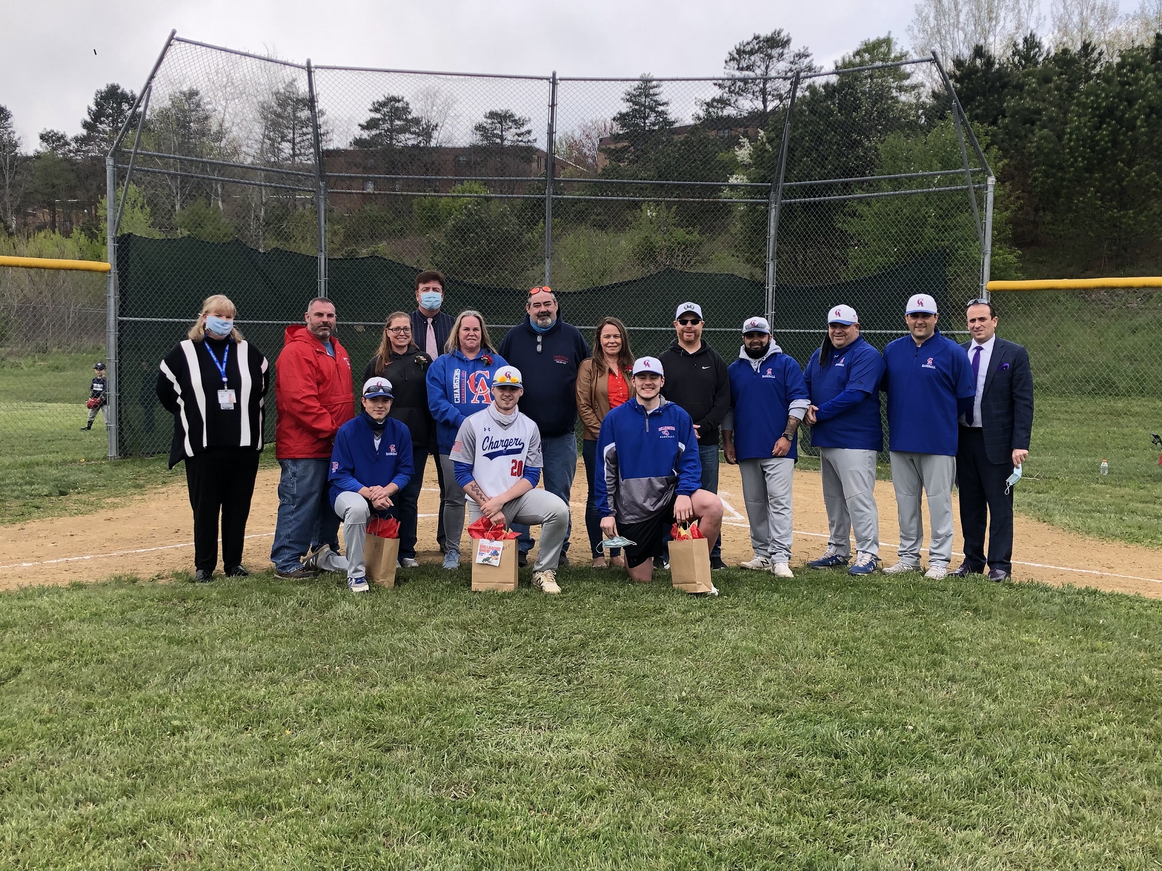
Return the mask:
[(984, 570), (984, 527), (989, 527), (989, 568), (1012, 573), (1013, 494), (1005, 495), (1011, 462), (989, 462), (984, 433), (960, 427), (956, 449), (956, 483), (960, 487), (960, 528), (964, 534), (964, 562), (974, 571)]

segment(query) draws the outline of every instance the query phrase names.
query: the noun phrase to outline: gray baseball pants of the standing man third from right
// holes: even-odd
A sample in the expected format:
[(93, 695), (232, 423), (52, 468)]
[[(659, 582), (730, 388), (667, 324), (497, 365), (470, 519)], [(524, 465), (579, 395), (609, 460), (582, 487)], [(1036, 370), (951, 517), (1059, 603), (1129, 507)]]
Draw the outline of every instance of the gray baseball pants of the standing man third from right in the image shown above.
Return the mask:
[(880, 554), (880, 510), (875, 504), (875, 451), (820, 447), (823, 504), (827, 508), (827, 544), (847, 559), (855, 549)]

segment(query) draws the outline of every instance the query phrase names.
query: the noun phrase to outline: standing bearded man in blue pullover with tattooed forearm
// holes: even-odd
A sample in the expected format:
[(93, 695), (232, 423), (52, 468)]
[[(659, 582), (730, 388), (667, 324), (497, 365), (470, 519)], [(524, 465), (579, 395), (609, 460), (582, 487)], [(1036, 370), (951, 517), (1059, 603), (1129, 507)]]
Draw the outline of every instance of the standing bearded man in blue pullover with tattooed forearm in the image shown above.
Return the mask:
[(806, 413), (806, 383), (795, 359), (770, 338), (763, 317), (743, 324), (739, 359), (727, 367), (731, 410), (723, 423), (726, 462), (743, 473), (743, 501), (754, 559), (744, 569), (791, 573), (791, 482), (798, 459), (796, 432)]

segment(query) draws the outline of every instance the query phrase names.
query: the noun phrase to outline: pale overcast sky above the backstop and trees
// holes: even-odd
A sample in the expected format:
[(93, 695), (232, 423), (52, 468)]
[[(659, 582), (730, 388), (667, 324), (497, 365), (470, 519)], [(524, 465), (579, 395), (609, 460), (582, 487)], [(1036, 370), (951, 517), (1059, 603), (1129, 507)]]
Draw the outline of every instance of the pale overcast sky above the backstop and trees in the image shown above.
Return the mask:
[[(1128, 7), (1132, 0), (1122, 2)], [(561, 75), (712, 75), (776, 27), (825, 65), (888, 31), (916, 0), (0, 0), (0, 103), (26, 150), (80, 131), (93, 92), (138, 91), (171, 28), (316, 64)], [(1046, 3), (1047, 6), (1047, 3)], [(94, 55), (95, 49), (95, 55)]]

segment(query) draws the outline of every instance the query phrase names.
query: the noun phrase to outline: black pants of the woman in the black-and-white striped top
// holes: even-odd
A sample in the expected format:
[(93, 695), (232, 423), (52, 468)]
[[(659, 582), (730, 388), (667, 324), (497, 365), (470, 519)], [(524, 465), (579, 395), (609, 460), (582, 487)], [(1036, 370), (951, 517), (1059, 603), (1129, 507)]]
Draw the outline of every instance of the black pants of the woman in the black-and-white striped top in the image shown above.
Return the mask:
[(218, 514), (222, 514), (222, 567), (242, 564), (250, 498), (258, 475), (252, 447), (211, 447), (186, 458), (189, 508), (194, 510), (194, 568), (213, 571), (217, 564)]

